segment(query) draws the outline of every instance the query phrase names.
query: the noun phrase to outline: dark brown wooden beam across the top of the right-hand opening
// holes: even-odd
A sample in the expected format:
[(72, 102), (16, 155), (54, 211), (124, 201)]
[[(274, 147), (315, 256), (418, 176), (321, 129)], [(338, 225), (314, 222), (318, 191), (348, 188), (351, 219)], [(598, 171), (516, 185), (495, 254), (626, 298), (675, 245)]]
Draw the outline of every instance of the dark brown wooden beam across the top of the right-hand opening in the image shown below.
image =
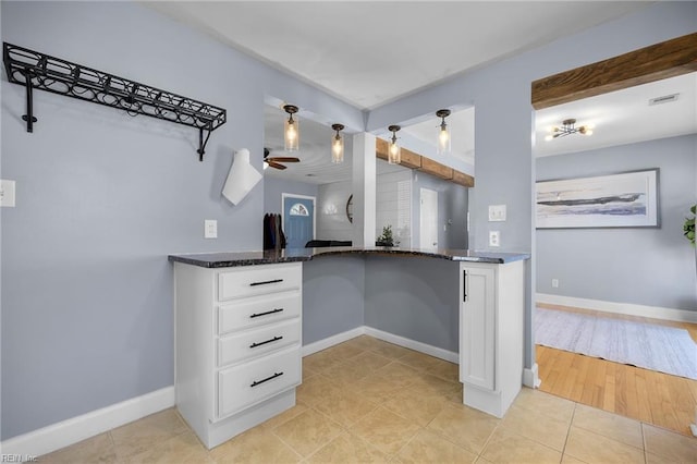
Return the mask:
[(697, 71), (697, 33), (533, 82), (537, 110)]

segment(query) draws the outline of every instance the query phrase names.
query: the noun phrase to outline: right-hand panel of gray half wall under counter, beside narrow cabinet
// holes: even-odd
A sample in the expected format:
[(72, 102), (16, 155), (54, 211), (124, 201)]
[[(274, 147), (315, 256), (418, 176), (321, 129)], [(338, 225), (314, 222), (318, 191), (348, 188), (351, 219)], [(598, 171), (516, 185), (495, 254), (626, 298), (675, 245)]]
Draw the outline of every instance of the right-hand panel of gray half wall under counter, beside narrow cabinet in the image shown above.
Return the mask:
[(366, 257), (365, 323), (457, 353), (457, 262), (436, 258)]

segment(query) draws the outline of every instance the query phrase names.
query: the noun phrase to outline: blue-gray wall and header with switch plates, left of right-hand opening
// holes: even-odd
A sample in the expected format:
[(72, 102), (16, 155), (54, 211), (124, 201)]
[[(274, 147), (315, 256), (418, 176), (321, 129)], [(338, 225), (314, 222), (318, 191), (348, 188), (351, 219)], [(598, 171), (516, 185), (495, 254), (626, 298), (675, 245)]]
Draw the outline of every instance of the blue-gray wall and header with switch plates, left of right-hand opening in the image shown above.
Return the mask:
[[(489, 249), (489, 230), (501, 231), (501, 252), (535, 255), (530, 134), (534, 111), (530, 83), (580, 65), (694, 33), (697, 2), (657, 2), (616, 21), (606, 22), (441, 85), (377, 108), (369, 131), (409, 121), (436, 108), (474, 106), (475, 187), (469, 190), (469, 248)], [(621, 38), (621, 39), (619, 39)], [(408, 147), (407, 147), (408, 148)], [(487, 221), (489, 205), (506, 205), (505, 222)], [(493, 224), (493, 225), (492, 225)], [(535, 363), (533, 332), (535, 260), (526, 262), (525, 366)]]

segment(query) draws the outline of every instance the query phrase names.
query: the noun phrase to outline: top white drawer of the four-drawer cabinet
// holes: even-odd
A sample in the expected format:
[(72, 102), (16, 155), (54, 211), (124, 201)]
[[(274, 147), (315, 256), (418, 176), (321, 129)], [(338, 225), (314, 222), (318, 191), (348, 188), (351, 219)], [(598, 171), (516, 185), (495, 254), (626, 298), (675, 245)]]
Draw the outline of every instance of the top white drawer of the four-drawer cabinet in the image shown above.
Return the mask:
[(218, 300), (299, 289), (303, 283), (301, 264), (245, 266), (218, 273)]

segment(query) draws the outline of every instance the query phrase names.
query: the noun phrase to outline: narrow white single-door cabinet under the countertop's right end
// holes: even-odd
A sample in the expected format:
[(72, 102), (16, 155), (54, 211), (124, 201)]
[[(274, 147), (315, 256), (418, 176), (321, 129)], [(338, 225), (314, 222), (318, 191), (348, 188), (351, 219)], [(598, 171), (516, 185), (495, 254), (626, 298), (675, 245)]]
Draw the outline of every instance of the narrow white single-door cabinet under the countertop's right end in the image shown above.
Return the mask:
[(460, 264), (463, 403), (503, 417), (523, 383), (524, 261)]

